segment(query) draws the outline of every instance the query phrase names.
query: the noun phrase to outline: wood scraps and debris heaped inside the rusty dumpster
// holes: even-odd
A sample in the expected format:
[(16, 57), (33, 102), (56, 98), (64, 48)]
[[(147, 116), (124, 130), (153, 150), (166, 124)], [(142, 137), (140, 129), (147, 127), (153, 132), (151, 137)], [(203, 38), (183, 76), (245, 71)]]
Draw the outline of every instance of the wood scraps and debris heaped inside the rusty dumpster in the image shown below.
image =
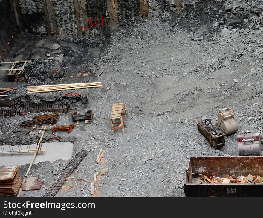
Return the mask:
[(213, 173), (212, 176), (207, 171), (203, 171), (201, 174), (196, 174), (203, 177), (197, 177), (196, 184), (212, 183), (212, 184), (229, 184), (229, 183), (240, 183), (240, 184), (255, 184), (263, 183), (263, 177), (257, 176), (236, 176), (236, 175), (225, 175), (224, 177), (216, 177)]

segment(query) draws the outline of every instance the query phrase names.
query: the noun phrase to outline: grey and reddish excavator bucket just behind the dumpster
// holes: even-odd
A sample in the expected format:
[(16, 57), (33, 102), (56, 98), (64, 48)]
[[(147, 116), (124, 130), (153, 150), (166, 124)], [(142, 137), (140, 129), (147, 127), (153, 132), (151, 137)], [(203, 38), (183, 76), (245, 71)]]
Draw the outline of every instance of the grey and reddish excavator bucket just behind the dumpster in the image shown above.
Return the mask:
[(253, 131), (242, 131), (242, 135), (237, 135), (238, 155), (261, 155), (261, 142), (259, 133)]

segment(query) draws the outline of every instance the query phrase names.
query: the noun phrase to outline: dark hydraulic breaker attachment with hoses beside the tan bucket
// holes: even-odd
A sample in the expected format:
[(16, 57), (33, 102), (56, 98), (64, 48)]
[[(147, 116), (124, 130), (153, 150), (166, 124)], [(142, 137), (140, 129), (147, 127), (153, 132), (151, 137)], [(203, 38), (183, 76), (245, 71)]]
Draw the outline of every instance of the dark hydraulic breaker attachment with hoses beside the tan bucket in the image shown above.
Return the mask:
[(215, 127), (211, 123), (211, 119), (205, 119), (204, 122), (199, 122), (198, 120), (194, 119), (194, 122), (197, 124), (198, 132), (200, 132), (207, 139), (211, 147), (218, 149), (225, 145), (224, 133), (219, 133), (216, 131)]

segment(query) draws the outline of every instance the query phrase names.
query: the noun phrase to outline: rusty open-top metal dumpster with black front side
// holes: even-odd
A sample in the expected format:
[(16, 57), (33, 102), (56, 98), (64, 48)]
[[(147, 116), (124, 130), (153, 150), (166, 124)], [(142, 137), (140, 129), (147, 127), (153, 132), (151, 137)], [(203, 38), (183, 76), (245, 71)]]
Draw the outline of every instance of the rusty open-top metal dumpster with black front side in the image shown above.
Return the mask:
[(195, 184), (192, 174), (207, 171), (215, 173), (218, 177), (228, 175), (259, 175), (263, 176), (263, 156), (238, 157), (191, 157), (185, 173), (184, 193), (186, 197), (263, 197), (263, 183), (256, 184)]

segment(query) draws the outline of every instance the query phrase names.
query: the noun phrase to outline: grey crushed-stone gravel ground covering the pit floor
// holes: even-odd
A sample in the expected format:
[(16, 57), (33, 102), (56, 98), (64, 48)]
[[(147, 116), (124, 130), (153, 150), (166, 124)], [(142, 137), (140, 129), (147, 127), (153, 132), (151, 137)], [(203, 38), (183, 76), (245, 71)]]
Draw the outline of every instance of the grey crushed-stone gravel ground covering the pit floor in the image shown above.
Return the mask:
[[(224, 28), (230, 34), (220, 36)], [(100, 168), (107, 167), (109, 172), (97, 175), (95, 196), (184, 196), (184, 173), (190, 157), (238, 156), (237, 133), (226, 136), (226, 145), (215, 150), (193, 122), (202, 116), (215, 122), (218, 109), (230, 106), (238, 133), (250, 129), (262, 133), (263, 28), (248, 33), (245, 28), (233, 29), (213, 27), (213, 21), (190, 29), (148, 20), (112, 30), (100, 56), (78, 65), (91, 70), (89, 81), (103, 84), (102, 88), (74, 90), (86, 94), (89, 104), (77, 103), (71, 108), (77, 107), (80, 113), (94, 110), (95, 124), (80, 122), (71, 134), (45, 134), (44, 141), (56, 136), (74, 141), (73, 156), (81, 148), (91, 149), (56, 196), (91, 196), (100, 149), (105, 150)], [(200, 34), (204, 40), (191, 40)], [(226, 59), (230, 62), (227, 67)], [(103, 73), (94, 77), (100, 68)], [(85, 82), (86, 78), (63, 82), (72, 81)], [(17, 95), (25, 93), (22, 86), (27, 84), (17, 85)], [(10, 84), (1, 82), (1, 86)], [(126, 106), (126, 128), (124, 134), (115, 131), (111, 135), (108, 118), (111, 104), (117, 102)], [(1, 119), (2, 137), (10, 134), (19, 119), (32, 116)], [(60, 115), (58, 124), (64, 122), (71, 123), (70, 114)], [(43, 196), (58, 176), (54, 172), (61, 172), (67, 163), (57, 160), (33, 165), (30, 175), (44, 180), (43, 186), (39, 191), (23, 191), (22, 196)], [(21, 166), (19, 172), (25, 175), (27, 167)]]

